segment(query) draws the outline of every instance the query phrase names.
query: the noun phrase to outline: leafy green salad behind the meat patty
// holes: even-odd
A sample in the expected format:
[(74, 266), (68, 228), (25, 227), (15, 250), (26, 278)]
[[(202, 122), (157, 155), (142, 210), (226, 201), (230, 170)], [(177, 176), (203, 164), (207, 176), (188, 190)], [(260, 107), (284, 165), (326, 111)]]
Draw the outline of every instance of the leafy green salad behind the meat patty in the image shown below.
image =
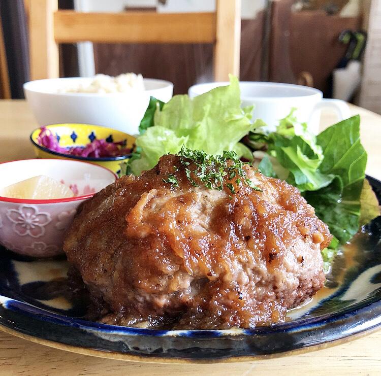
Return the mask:
[(238, 79), (193, 99), (175, 95), (164, 104), (151, 97), (141, 121), (136, 151), (126, 173), (139, 175), (182, 147), (211, 155), (234, 151), (268, 177), (296, 186), (334, 235), (323, 250), (326, 269), (340, 245), (379, 215), (365, 179), (367, 154), (360, 142), (360, 117), (343, 120), (315, 136), (298, 122), (295, 109), (274, 132), (251, 121), (252, 107), (241, 108)]

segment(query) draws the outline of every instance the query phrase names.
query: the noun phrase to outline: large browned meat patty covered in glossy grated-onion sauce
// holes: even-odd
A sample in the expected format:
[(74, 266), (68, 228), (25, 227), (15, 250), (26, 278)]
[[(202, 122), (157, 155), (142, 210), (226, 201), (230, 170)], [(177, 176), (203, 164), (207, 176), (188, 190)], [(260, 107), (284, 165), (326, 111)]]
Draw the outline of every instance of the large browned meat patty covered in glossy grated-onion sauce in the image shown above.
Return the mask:
[(247, 328), (284, 320), (323, 286), (326, 224), (295, 187), (244, 170), (262, 192), (195, 187), (166, 155), (85, 202), (64, 250), (103, 322)]

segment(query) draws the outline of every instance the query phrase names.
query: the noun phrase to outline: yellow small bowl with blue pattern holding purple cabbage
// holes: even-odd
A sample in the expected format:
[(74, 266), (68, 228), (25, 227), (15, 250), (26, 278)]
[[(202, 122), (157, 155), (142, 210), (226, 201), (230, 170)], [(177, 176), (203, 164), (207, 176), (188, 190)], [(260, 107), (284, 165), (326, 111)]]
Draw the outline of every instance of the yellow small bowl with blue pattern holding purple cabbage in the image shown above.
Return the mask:
[[(126, 148), (133, 148), (135, 144), (135, 137), (130, 134), (121, 132), (119, 130), (102, 127), (100, 125), (90, 124), (54, 124), (47, 125), (53, 134), (57, 136), (59, 146), (61, 147), (73, 147), (73, 146), (85, 146), (95, 139), (105, 139), (107, 142), (125, 142)], [(55, 158), (55, 159), (76, 159), (100, 166), (109, 168), (111, 171), (118, 173), (120, 170), (120, 163), (127, 162), (131, 158), (131, 154), (121, 155), (117, 157), (78, 157), (74, 155), (68, 155), (65, 153), (58, 153), (56, 151), (49, 150), (38, 143), (38, 135), (40, 128), (35, 129), (30, 134), (30, 141), (33, 144), (36, 155), (38, 158)]]

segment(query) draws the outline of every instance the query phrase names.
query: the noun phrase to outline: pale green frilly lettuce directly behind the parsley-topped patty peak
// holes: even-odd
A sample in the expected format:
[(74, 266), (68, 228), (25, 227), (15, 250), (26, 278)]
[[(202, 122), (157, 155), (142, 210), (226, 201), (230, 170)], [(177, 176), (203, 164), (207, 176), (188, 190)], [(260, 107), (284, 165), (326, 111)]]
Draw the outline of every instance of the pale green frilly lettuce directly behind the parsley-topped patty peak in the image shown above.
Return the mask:
[(182, 145), (212, 155), (233, 150), (239, 157), (252, 159), (250, 150), (239, 141), (263, 122), (251, 123), (252, 107), (241, 109), (240, 105), (239, 82), (234, 76), (230, 76), (230, 85), (193, 99), (175, 95), (162, 107), (152, 99), (140, 127), (143, 134), (136, 141), (141, 154), (140, 159), (131, 161), (132, 172), (139, 175), (152, 168), (162, 155), (177, 153)]

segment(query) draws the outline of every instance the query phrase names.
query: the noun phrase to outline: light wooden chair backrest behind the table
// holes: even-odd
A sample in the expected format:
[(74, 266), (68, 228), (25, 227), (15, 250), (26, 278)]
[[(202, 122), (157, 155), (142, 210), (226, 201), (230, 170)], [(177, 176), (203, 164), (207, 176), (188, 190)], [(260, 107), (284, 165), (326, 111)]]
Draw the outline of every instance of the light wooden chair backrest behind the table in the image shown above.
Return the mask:
[(81, 13), (57, 0), (29, 0), (30, 75), (59, 77), (59, 43), (213, 43), (214, 80), (239, 76), (241, 0), (216, 0), (215, 13)]

